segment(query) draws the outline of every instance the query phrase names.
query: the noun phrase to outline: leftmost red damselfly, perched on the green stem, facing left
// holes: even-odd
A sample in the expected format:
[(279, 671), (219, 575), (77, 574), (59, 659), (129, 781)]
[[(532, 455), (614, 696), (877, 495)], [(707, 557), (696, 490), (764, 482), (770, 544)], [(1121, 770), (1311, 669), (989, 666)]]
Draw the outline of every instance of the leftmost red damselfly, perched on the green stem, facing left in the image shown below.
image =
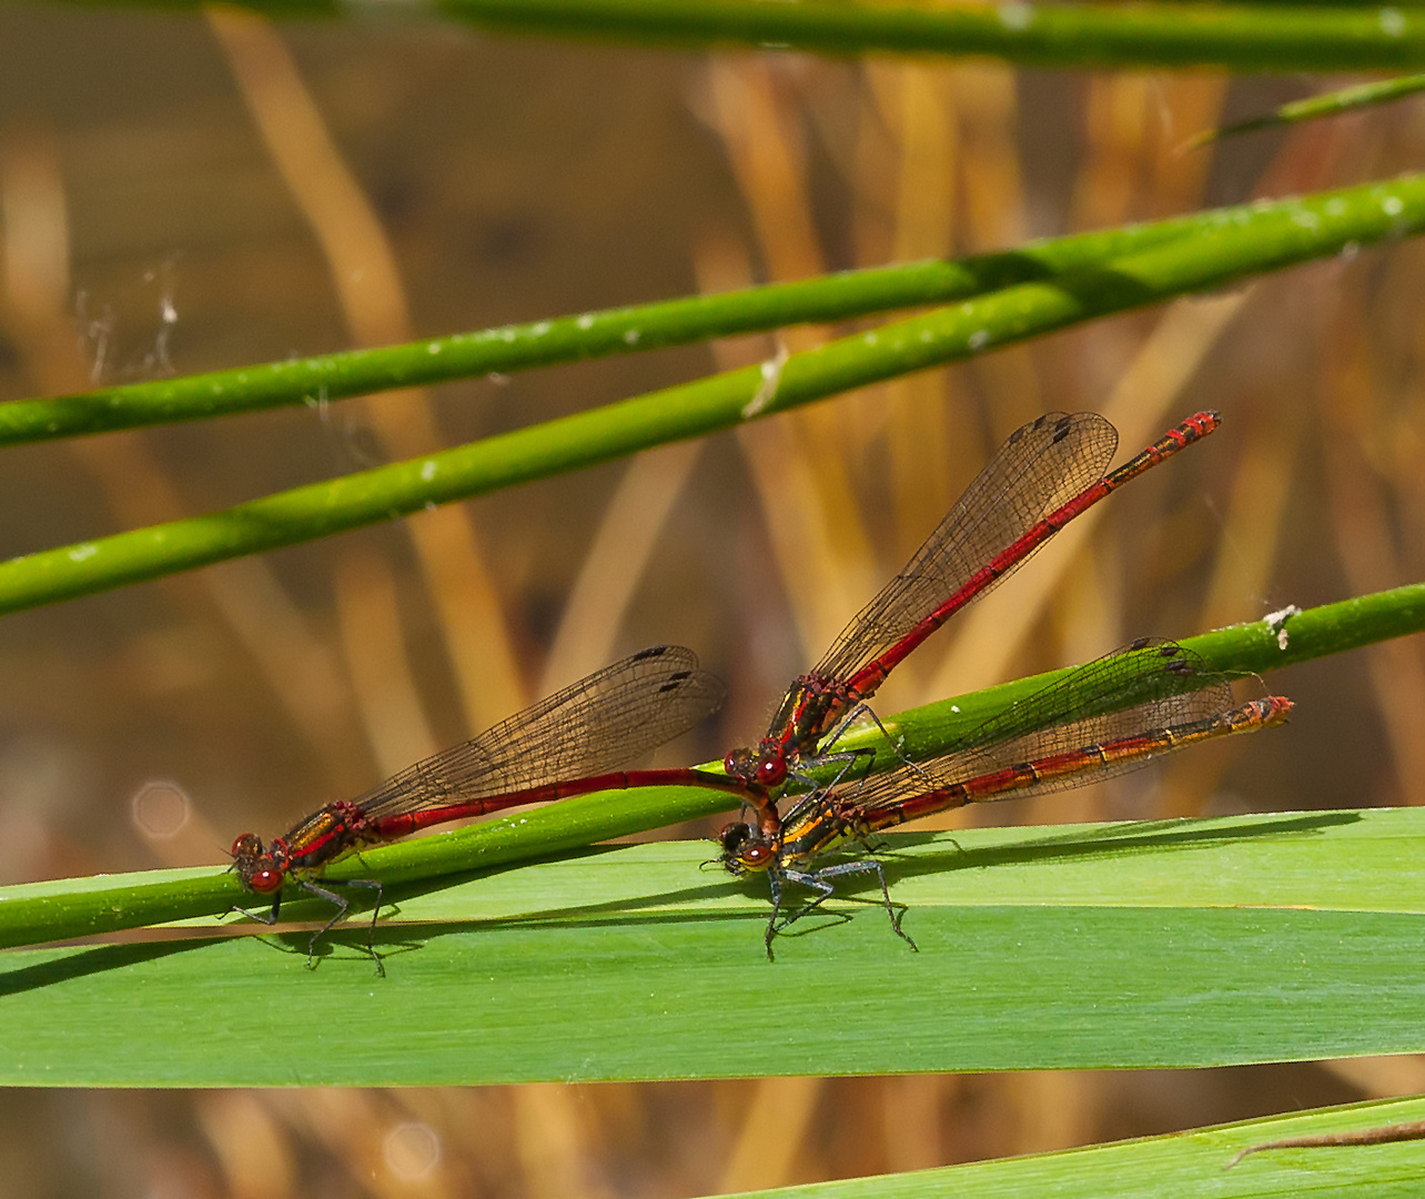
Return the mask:
[[(244, 833), (232, 843), (232, 868), (248, 890), (274, 897), (269, 914), (248, 915), (275, 924), (288, 880), (332, 904), (336, 914), (308, 945), (311, 964), (318, 940), (349, 907), (346, 898), (331, 890), (333, 884), (318, 885), (311, 874), (352, 850), (393, 841), (433, 824), (590, 791), (701, 786), (745, 798), (745, 787), (721, 774), (693, 768), (614, 771), (715, 711), (722, 693), (718, 679), (698, 670), (693, 650), (654, 646), (590, 674), (473, 740), (406, 767), (355, 800), (328, 804), (268, 845)], [(353, 880), (341, 885), (375, 891), (375, 932), (380, 884)], [(385, 972), (369, 942), (366, 948), (378, 971)]]

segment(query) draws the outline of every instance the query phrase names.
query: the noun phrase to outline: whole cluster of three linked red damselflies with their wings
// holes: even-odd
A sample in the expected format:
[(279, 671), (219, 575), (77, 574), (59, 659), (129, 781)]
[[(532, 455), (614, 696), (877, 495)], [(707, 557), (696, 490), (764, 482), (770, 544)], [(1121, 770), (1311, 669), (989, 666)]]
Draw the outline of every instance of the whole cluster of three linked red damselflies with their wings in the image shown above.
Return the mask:
[[(1127, 463), (1104, 473), (1117, 432), (1104, 418), (1049, 413), (1016, 431), (926, 539), (906, 567), (846, 626), (821, 663), (791, 684), (767, 736), (727, 754), (724, 773), (627, 770), (644, 753), (687, 731), (722, 701), (722, 684), (691, 650), (656, 646), (590, 674), (479, 737), (445, 750), (355, 800), (328, 804), (264, 844), (234, 841), (242, 884), (272, 897), (282, 888), (326, 900), (335, 912), (309, 944), (348, 911), (319, 880), (335, 858), (420, 828), (519, 804), (627, 787), (691, 784), (720, 790), (752, 810), (720, 835), (721, 861), (737, 875), (765, 874), (772, 917), (765, 945), (831, 895), (835, 880), (875, 874), (896, 934), (913, 945), (891, 907), (869, 838), (911, 820), (969, 803), (1039, 794), (1119, 774), (1198, 741), (1280, 724), (1280, 696), (1234, 706), (1228, 681), (1181, 646), (1144, 639), (1067, 673), (995, 713), (925, 760), (902, 754), (886, 774), (866, 776), (872, 754), (838, 750), (844, 731), (912, 650), (950, 616), (993, 587), (1059, 529), (1130, 479), (1218, 426), (1198, 412)], [(871, 719), (875, 720), (874, 714)], [(818, 786), (809, 771), (832, 766)], [(808, 788), (782, 815), (778, 800)], [(868, 854), (828, 861), (861, 843)], [(809, 902), (784, 914), (788, 884)], [(342, 885), (375, 892), (380, 884)], [(378, 969), (380, 959), (368, 942)]]

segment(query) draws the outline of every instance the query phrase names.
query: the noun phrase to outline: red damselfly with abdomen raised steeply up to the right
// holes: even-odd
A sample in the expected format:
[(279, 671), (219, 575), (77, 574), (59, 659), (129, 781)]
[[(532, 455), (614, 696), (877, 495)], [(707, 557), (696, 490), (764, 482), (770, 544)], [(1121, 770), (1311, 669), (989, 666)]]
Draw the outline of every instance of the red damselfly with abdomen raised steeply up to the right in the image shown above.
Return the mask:
[(824, 739), (835, 743), (906, 654), (1076, 516), (1218, 423), (1198, 412), (1110, 475), (1119, 433), (1096, 412), (1050, 412), (1013, 432), (906, 567), (792, 683), (757, 747), (724, 760), (752, 788), (762, 835), (779, 827), (777, 788)]

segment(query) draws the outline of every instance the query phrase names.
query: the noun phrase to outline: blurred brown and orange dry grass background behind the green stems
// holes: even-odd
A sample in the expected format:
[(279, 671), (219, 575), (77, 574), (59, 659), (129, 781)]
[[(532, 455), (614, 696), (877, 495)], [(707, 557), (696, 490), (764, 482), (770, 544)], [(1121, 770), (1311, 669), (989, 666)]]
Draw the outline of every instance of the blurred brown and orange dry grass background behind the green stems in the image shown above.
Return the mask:
[[(1281, 87), (1274, 86), (1274, 87)], [(1193, 76), (643, 54), (450, 29), (0, 11), (0, 395), (1012, 245), (1419, 161), (1418, 106), (1178, 155), (1284, 93)], [(1010, 429), (1224, 431), (1079, 522), (882, 707), (1421, 577), (1419, 245), (1076, 329), (329, 543), (0, 622), (0, 880), (221, 861), (658, 640), (760, 730)], [(824, 336), (6, 453), (13, 555)], [(1416, 640), (1271, 680), (1294, 724), (985, 820), (1415, 803)], [(697, 834), (701, 830), (684, 830)], [(755, 938), (748, 968), (761, 962)], [(255, 998), (261, 1002), (261, 997)], [(480, 1002), (472, 992), (470, 1002)], [(742, 1014), (710, 1036), (742, 1035)], [(868, 1032), (868, 1035), (874, 1035)], [(953, 1035), (953, 1022), (948, 1022)], [(262, 1046), (254, 1046), (255, 1054)], [(274, 1064), (274, 1078), (282, 1075)], [(1425, 1089), (1196, 1074), (0, 1096), (16, 1193), (681, 1196)], [(767, 1129), (775, 1129), (768, 1135)]]

